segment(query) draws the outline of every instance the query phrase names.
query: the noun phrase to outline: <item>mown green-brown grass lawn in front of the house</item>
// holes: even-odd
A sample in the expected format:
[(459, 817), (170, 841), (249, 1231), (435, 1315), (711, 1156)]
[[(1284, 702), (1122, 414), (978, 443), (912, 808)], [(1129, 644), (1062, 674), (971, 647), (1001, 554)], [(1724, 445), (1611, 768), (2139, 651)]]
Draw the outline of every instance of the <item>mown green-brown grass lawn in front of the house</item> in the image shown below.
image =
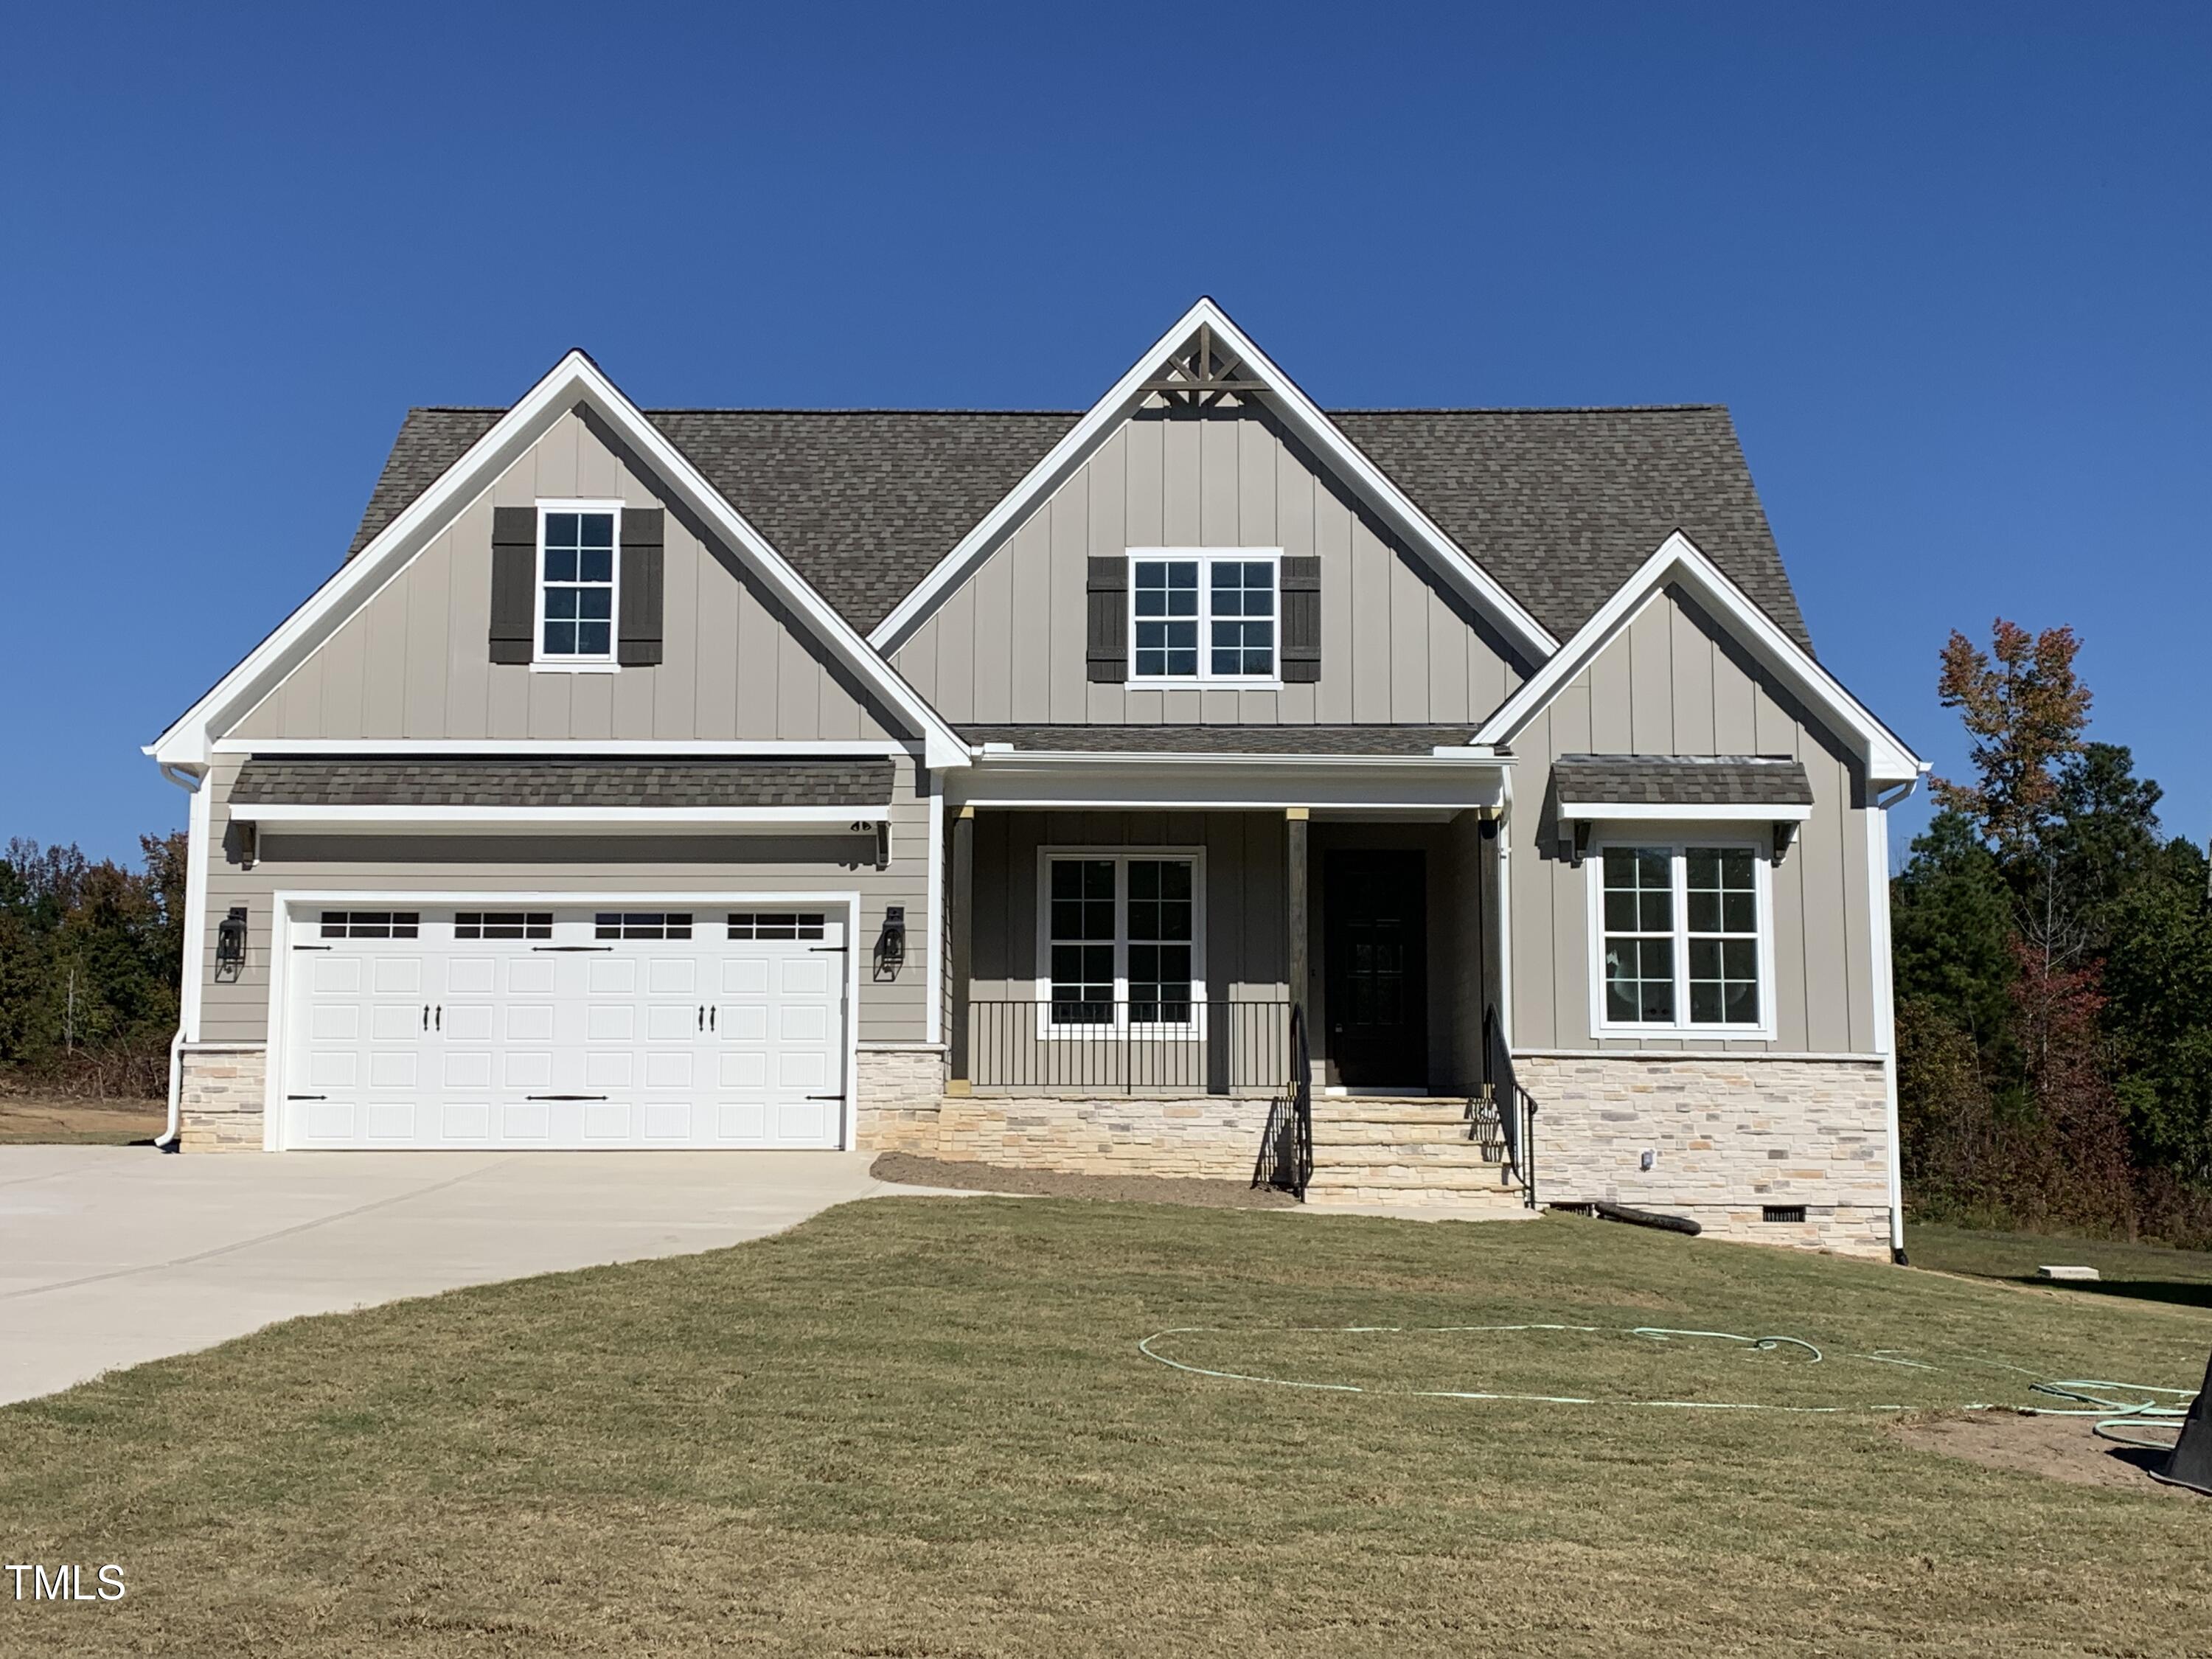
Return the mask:
[[(1531, 1321), (1601, 1329), (1287, 1329)], [(1175, 1371), (1137, 1352), (1168, 1327), (1389, 1391)], [(2194, 1387), (2208, 1349), (2197, 1307), (1557, 1217), (869, 1201), (0, 1411), (7, 1559), (131, 1586), (0, 1599), (0, 1652), (2203, 1655), (2212, 1502), (1880, 1413), (1400, 1389), (1936, 1407), (2026, 1400), (1993, 1360)]]

